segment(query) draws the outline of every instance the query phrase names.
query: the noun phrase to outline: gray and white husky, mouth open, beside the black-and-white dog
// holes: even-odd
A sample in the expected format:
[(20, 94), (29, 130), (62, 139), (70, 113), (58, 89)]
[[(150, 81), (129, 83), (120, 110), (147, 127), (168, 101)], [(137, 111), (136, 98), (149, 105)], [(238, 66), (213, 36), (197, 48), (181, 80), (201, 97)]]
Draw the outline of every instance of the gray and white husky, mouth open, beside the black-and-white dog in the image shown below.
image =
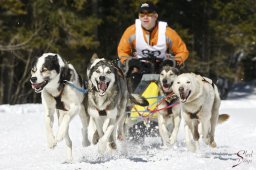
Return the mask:
[[(120, 68), (96, 54), (87, 67), (88, 113), (90, 124), (96, 126), (99, 136), (98, 151), (116, 149), (116, 139), (124, 139), (124, 122), (127, 117), (126, 106), (130, 98), (134, 103), (148, 105), (139, 95), (128, 94), (126, 78)], [(92, 127), (92, 126), (89, 126)], [(89, 136), (95, 129), (89, 128)]]

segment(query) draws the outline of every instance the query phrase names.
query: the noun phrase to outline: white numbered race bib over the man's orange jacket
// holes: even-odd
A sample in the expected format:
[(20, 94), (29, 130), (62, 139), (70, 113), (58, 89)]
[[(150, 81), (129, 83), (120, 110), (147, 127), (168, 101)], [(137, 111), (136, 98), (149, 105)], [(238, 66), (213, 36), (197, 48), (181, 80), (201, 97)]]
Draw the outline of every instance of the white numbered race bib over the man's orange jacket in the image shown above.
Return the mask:
[(150, 56), (154, 56), (156, 58), (163, 59), (165, 57), (166, 53), (166, 22), (158, 22), (158, 40), (157, 44), (154, 46), (151, 46), (149, 43), (146, 43), (144, 40), (144, 35), (141, 27), (141, 21), (139, 19), (136, 19), (135, 21), (136, 25), (136, 52), (138, 55), (138, 58), (147, 58)]

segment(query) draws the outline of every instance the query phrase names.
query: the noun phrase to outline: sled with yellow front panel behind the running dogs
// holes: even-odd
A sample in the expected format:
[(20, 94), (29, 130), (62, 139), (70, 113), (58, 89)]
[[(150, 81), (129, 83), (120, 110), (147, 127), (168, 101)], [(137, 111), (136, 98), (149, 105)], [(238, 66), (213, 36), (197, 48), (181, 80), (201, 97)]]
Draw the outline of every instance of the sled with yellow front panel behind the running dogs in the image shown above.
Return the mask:
[[(140, 83), (135, 88), (134, 93), (142, 95), (148, 100), (146, 107), (133, 105), (128, 111), (129, 117), (127, 124), (129, 135), (133, 139), (143, 140), (145, 136), (158, 136), (158, 106), (162, 102), (163, 96), (159, 96), (158, 81), (160, 75), (157, 73), (155, 61), (156, 58), (149, 57), (141, 60), (147, 60), (151, 64), (151, 71), (143, 74)], [(174, 59), (172, 60), (174, 63)], [(175, 65), (174, 65), (175, 66)]]

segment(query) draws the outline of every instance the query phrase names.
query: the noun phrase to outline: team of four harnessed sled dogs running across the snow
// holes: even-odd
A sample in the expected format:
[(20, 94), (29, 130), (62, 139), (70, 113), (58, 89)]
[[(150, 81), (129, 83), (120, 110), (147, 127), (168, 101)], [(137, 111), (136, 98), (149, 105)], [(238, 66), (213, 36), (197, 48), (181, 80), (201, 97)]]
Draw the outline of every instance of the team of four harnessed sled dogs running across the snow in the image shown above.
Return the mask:
[[(85, 87), (73, 65), (55, 53), (44, 53), (32, 63), (30, 82), (35, 92), (41, 93), (48, 147), (53, 149), (64, 139), (67, 162), (72, 162), (69, 124), (76, 114), (82, 123), (83, 146), (97, 144), (98, 152), (103, 154), (116, 149), (117, 140), (125, 139), (128, 102), (148, 105), (144, 97), (128, 93), (122, 70), (104, 58), (93, 55), (86, 75)], [(159, 95), (173, 93), (179, 100), (178, 105), (158, 112), (163, 145), (171, 146), (176, 142), (182, 117), (190, 151), (198, 149), (200, 136), (207, 145), (216, 147), (216, 125), (229, 117), (219, 115), (221, 100), (217, 86), (210, 79), (194, 73), (179, 75), (179, 71), (170, 65), (162, 66), (158, 86)], [(159, 107), (166, 107), (169, 102), (166, 100)], [(57, 114), (59, 125), (56, 133), (53, 132), (54, 114)]]

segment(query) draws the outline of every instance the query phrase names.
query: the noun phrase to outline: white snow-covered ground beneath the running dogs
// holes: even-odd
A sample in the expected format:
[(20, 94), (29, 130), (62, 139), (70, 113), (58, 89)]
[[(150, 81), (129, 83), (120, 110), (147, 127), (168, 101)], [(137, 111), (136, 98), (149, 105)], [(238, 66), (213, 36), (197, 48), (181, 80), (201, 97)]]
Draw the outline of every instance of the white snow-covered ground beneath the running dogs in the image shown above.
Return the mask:
[[(248, 86), (244, 89), (248, 91)], [(220, 108), (220, 113), (229, 114), (230, 119), (217, 126), (217, 148), (209, 148), (200, 141), (197, 153), (187, 151), (181, 125), (178, 142), (172, 148), (163, 149), (159, 137), (148, 137), (143, 145), (119, 143), (118, 148), (123, 145), (126, 149), (99, 155), (97, 146), (82, 147), (81, 124), (77, 116), (70, 125), (73, 164), (63, 163), (66, 157), (64, 141), (54, 150), (48, 149), (41, 104), (0, 105), (0, 169), (256, 170), (255, 99), (255, 89), (247, 93), (246, 90), (230, 93), (229, 99), (223, 100)]]

